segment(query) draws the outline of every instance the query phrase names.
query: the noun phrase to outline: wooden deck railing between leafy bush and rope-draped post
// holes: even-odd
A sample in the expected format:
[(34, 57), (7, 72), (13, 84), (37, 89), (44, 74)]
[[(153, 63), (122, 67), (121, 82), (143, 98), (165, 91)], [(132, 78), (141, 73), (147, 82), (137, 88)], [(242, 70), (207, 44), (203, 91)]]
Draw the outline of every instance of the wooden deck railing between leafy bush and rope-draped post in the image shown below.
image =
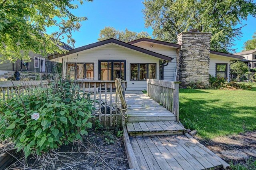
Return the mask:
[[(95, 108), (93, 115), (98, 118), (102, 127), (113, 128), (118, 126), (120, 121), (122, 125), (125, 123), (125, 119), (123, 119), (121, 111), (116, 107), (114, 99), (116, 92), (115, 81), (77, 80), (76, 83), (80, 85), (83, 94), (90, 94), (90, 99), (93, 100)], [(126, 89), (126, 81), (122, 81), (121, 84), (123, 89)], [(126, 113), (123, 112), (123, 114)]]

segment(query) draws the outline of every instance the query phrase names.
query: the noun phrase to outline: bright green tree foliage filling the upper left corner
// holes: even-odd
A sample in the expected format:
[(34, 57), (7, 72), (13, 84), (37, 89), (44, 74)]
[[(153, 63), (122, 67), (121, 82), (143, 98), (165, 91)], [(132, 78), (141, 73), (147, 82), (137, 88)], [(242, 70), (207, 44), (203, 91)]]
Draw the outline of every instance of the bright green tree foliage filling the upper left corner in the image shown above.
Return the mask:
[[(92, 0), (87, 0), (92, 1)], [(70, 9), (78, 8), (72, 0), (0, 0), (0, 54), (2, 60), (29, 59), (28, 51), (47, 57), (63, 53), (56, 44), (68, 39), (74, 46), (72, 32), (81, 27), (86, 17), (77, 17)], [(83, 0), (80, 0), (83, 4)], [(46, 29), (59, 29), (46, 34)]]

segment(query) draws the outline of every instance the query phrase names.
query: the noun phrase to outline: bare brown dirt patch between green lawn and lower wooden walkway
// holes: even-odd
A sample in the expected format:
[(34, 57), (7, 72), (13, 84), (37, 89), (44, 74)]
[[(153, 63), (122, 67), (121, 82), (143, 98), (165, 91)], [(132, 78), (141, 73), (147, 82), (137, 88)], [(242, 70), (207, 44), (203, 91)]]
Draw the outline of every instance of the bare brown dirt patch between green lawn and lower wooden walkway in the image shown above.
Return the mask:
[(256, 131), (200, 141), (226, 162), (246, 164), (256, 160)]

